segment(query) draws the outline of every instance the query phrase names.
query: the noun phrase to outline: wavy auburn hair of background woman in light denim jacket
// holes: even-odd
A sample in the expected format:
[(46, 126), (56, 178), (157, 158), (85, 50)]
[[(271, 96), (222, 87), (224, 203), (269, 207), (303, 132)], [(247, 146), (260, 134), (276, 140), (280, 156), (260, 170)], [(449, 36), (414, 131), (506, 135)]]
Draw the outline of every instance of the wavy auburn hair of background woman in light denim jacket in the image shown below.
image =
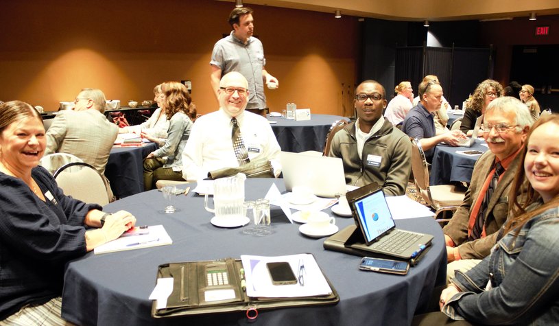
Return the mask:
[(161, 84), (161, 91), (165, 94), (163, 107), (168, 120), (179, 111), (185, 113), (192, 121), (196, 119), (196, 106), (192, 103), (187, 86), (180, 82), (164, 82)]

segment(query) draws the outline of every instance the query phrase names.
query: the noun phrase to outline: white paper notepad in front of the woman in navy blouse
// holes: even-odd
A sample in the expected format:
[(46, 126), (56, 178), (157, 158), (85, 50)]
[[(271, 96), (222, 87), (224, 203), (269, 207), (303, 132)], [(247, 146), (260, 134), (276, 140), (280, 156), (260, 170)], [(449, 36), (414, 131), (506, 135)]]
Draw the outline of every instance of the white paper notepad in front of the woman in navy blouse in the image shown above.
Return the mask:
[(169, 237), (163, 225), (149, 226), (147, 229), (150, 230), (150, 233), (134, 235), (133, 237), (119, 237), (118, 239), (98, 246), (93, 252), (95, 255), (98, 255), (101, 253), (115, 253), (117, 251), (165, 246), (173, 243), (173, 240), (171, 240), (171, 237)]

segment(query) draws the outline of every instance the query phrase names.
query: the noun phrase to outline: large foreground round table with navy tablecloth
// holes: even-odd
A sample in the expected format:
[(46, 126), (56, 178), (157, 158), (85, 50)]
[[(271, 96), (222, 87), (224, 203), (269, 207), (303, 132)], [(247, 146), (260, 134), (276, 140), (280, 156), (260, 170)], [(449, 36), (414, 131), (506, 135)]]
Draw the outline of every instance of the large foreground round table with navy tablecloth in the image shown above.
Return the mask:
[[(246, 200), (262, 198), (272, 185), (285, 191), (282, 179), (247, 179)], [(183, 186), (187, 187), (187, 185)], [(194, 189), (195, 184), (190, 185)], [(204, 197), (192, 191), (176, 196), (178, 211), (163, 213), (165, 201), (159, 191), (117, 200), (104, 211), (119, 209), (136, 216), (137, 225), (163, 224), (173, 244), (132, 251), (94, 255), (71, 261), (64, 277), (62, 317), (78, 325), (409, 325), (421, 310), (433, 286), (444, 284), (446, 251), (440, 226), (431, 217), (396, 220), (401, 229), (429, 233), (433, 245), (407, 275), (366, 272), (358, 269), (361, 257), (326, 251), (325, 238), (314, 239), (289, 224), (281, 209), (272, 206), (272, 234), (243, 234), (243, 228), (213, 226), (213, 214), (204, 209)], [(328, 209), (330, 212), (330, 210)], [(331, 213), (331, 212), (330, 212)], [(335, 216), (331, 213), (331, 216)], [(336, 217), (340, 229), (352, 218)], [(252, 222), (248, 224), (252, 226)], [(239, 258), (241, 255), (279, 256), (312, 253), (324, 275), (340, 295), (337, 305), (259, 310), (257, 320), (244, 312), (152, 318), (148, 299), (160, 264)]]

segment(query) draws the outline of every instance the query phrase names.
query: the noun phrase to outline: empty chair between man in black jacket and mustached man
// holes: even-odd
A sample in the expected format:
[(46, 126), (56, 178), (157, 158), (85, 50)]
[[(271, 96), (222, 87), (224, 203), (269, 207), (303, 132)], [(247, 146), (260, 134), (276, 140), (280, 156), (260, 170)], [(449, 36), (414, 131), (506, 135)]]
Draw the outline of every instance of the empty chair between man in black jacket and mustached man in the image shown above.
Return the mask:
[[(418, 194), (435, 209), (435, 218), (442, 211), (455, 211), (464, 202), (464, 192), (459, 191), (454, 185), (429, 186), (429, 168), (425, 159), (425, 152), (421, 144), (412, 139), (412, 172)], [(448, 222), (437, 219), (438, 222)]]

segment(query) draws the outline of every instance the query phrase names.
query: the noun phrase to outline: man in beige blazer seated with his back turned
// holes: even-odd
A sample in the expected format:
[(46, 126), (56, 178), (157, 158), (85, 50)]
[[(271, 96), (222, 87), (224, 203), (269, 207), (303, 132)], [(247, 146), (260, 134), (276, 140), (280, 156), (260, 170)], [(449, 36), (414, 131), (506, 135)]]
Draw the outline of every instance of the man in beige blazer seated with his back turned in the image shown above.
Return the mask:
[[(104, 176), (110, 149), (119, 128), (105, 113), (105, 94), (100, 89), (82, 89), (74, 100), (73, 110), (62, 110), (47, 130), (45, 155), (68, 153), (78, 156)], [(112, 191), (104, 177), (109, 198)]]

